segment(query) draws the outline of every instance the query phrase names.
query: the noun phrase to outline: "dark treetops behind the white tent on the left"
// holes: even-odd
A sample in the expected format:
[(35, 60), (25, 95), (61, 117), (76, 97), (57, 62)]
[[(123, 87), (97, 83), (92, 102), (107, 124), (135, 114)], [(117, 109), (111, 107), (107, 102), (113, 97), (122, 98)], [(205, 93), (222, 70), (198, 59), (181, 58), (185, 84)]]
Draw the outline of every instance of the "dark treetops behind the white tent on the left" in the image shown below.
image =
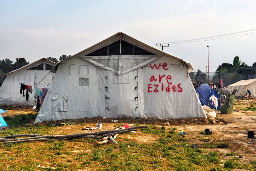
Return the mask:
[[(62, 55), (59, 57), (59, 61), (63, 61), (64, 59), (70, 56), (71, 55)], [(48, 57), (46, 59), (49, 59), (56, 63), (59, 62), (58, 59), (53, 57)], [(27, 64), (29, 64), (29, 62), (27, 62), (25, 58), (16, 58), (16, 62), (14, 63), (12, 60), (8, 58), (0, 60), (0, 81), (3, 80), (3, 77), (5, 76), (6, 73), (19, 69)]]

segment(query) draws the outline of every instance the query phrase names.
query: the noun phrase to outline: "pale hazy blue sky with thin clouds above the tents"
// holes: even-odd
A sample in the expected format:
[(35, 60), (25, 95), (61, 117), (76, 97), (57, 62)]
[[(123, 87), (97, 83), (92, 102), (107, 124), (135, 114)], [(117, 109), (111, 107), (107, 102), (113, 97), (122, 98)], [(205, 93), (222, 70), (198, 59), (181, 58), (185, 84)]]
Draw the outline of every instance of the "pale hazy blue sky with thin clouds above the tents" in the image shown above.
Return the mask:
[[(256, 29), (255, 0), (0, 0), (0, 60), (34, 62), (74, 55), (117, 32), (146, 44), (198, 39)], [(173, 44), (164, 51), (210, 72), (236, 55), (256, 62), (256, 30), (226, 39)], [(222, 38), (222, 37), (215, 37)], [(214, 39), (214, 38), (212, 38)]]

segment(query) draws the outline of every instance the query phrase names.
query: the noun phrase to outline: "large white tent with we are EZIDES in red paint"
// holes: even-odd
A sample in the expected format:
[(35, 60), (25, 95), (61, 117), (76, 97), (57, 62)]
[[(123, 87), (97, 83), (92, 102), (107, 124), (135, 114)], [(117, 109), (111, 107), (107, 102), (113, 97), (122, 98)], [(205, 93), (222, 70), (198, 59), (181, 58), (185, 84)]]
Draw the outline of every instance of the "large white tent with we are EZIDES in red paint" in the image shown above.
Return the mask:
[(117, 33), (59, 63), (35, 122), (206, 117), (189, 63)]

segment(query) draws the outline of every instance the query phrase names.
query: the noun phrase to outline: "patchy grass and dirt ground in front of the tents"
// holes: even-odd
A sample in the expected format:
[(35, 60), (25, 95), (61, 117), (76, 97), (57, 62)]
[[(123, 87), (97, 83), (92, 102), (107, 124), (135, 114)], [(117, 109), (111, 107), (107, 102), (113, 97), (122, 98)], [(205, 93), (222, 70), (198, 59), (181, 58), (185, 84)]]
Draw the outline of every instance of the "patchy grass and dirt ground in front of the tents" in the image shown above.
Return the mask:
[[(212, 119), (167, 120), (119, 118), (120, 123), (102, 118), (63, 120), (15, 127), (0, 132), (10, 134), (65, 135), (83, 132), (83, 127), (111, 130), (124, 124), (147, 125), (135, 133), (120, 134), (113, 143), (98, 145), (96, 139), (0, 144), (0, 170), (256, 170), (255, 138), (247, 131), (256, 130), (256, 99), (235, 99), (233, 114), (217, 114)], [(13, 112), (13, 113), (12, 113)], [(11, 114), (12, 113), (12, 114)], [(8, 110), (4, 116), (35, 113), (30, 108)], [(34, 114), (36, 115), (36, 114)], [(23, 116), (24, 117), (24, 116)], [(212, 129), (211, 135), (204, 130)], [(95, 130), (94, 130), (95, 131)], [(181, 136), (180, 132), (188, 133)], [(198, 144), (198, 149), (191, 148)]]

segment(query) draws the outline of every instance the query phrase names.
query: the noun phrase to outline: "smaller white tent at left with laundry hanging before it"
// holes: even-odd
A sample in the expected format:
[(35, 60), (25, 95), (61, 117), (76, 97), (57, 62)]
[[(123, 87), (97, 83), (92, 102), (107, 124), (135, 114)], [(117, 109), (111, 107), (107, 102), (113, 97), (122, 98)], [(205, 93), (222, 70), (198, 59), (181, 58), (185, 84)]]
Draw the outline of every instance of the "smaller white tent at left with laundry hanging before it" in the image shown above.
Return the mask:
[[(21, 84), (36, 86), (39, 83), (37, 85), (39, 87), (47, 86), (54, 77), (54, 73), (50, 70), (55, 64), (55, 62), (42, 58), (6, 73), (0, 87), (0, 105), (36, 105), (37, 99), (32, 98), (35, 90), (32, 91), (32, 94), (29, 92), (29, 101), (26, 101), (26, 95), (22, 97), (22, 94), (20, 94)], [(26, 90), (24, 92), (26, 94)]]

